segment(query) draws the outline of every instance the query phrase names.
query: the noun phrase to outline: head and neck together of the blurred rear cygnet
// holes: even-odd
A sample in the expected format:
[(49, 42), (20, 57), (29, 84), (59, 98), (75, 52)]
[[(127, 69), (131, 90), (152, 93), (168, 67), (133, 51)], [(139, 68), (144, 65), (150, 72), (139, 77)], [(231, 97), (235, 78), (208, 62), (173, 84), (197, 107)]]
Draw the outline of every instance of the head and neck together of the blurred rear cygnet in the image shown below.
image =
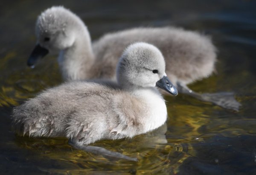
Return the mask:
[(59, 52), (58, 63), (65, 80), (92, 78), (81, 78), (89, 74), (95, 59), (88, 29), (76, 14), (53, 6), (38, 16), (35, 34), (37, 44), (27, 60), (28, 66), (34, 67), (49, 52)]

